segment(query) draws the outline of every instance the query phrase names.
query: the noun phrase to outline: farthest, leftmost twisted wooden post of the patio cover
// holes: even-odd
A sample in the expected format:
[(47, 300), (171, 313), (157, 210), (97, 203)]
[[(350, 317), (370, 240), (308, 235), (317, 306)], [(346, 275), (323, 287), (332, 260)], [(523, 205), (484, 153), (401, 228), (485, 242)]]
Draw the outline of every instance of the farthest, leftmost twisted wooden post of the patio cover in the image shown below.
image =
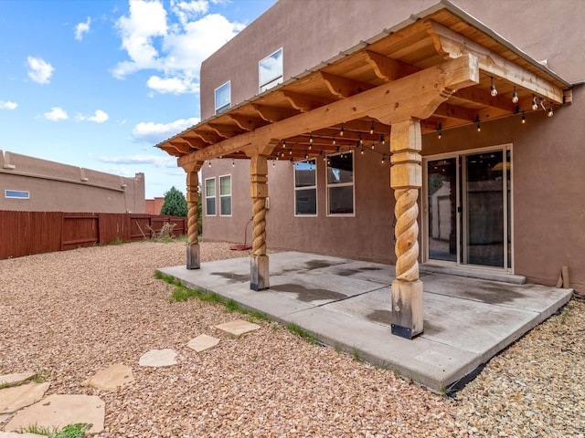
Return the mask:
[(203, 162), (194, 162), (185, 166), (186, 172), (186, 206), (187, 206), (187, 245), (186, 268), (199, 269), (199, 217), (197, 203), (199, 201), (199, 176)]

